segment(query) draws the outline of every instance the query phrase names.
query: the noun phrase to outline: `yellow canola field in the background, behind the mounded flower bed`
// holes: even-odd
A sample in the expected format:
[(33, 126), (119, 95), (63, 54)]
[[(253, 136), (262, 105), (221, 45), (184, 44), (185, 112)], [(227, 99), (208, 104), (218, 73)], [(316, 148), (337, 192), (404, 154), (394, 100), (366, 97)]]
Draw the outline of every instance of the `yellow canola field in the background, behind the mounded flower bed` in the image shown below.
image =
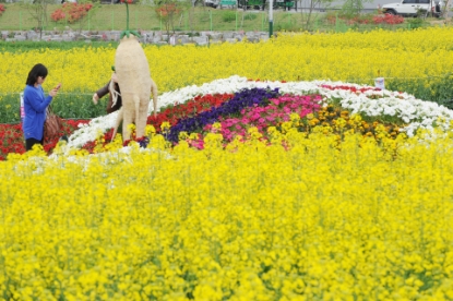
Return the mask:
[[(397, 89), (426, 87), (453, 70), (453, 28), (372, 31), (346, 34), (279, 34), (259, 44), (210, 47), (144, 45), (152, 76), (160, 92), (203, 84), (230, 75), (253, 80), (333, 80), (373, 84), (386, 77)], [(105, 85), (115, 63), (116, 45), (68, 50), (0, 52), (0, 94), (24, 88), (31, 68), (49, 68), (48, 91), (59, 82), (65, 93), (93, 93)], [(404, 82), (404, 86), (400, 83)], [(407, 91), (407, 89), (404, 89)]]

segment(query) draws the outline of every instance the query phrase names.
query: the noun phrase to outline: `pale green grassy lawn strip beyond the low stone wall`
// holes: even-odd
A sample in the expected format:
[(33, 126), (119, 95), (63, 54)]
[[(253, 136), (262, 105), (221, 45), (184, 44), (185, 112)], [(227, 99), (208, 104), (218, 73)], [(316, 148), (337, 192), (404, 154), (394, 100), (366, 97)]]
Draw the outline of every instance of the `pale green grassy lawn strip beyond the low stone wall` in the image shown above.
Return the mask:
[[(27, 31), (37, 26), (32, 16), (31, 4), (4, 4), (7, 10), (0, 16), (0, 31)], [(83, 21), (70, 24), (65, 21), (53, 22), (50, 15), (60, 4), (48, 5), (48, 23), (46, 31), (63, 31), (70, 27), (74, 31), (120, 31), (126, 27), (126, 8), (123, 4), (95, 4)], [(176, 31), (263, 31), (269, 29), (267, 11), (243, 11), (231, 9), (212, 9), (206, 7), (191, 8), (175, 20)], [(274, 29), (301, 31), (307, 16), (302, 13), (274, 11)], [(343, 22), (332, 24), (326, 22), (324, 13), (313, 13), (310, 31), (346, 32), (348, 28), (371, 31), (377, 27), (384, 29), (408, 28), (407, 21), (398, 25), (346, 25)], [(422, 26), (429, 25), (424, 22)], [(165, 31), (154, 7), (144, 4), (130, 5), (130, 27), (143, 31)]]

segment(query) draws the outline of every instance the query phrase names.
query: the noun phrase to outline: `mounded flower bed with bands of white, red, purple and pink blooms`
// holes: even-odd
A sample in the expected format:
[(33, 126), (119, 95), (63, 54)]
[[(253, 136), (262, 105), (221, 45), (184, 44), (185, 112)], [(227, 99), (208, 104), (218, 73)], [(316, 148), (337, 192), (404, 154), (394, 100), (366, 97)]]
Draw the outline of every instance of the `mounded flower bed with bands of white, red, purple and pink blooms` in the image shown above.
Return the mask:
[[(250, 128), (266, 137), (270, 127), (282, 129), (293, 113), (300, 119), (299, 131), (309, 133), (320, 125), (342, 136), (358, 132), (377, 136), (378, 128), (392, 137), (401, 133), (414, 136), (418, 129), (448, 130), (453, 119), (445, 107), (406, 93), (326, 81), (260, 82), (231, 76), (165, 93), (159, 103), (159, 107), (170, 107), (148, 117), (152, 131), (159, 133), (165, 128), (163, 133), (174, 145), (182, 134), (199, 148), (216, 122), (227, 144), (238, 135), (246, 136)], [(111, 113), (92, 120), (70, 136), (68, 146), (92, 152), (103, 133), (104, 147), (110, 141), (115, 119)]]

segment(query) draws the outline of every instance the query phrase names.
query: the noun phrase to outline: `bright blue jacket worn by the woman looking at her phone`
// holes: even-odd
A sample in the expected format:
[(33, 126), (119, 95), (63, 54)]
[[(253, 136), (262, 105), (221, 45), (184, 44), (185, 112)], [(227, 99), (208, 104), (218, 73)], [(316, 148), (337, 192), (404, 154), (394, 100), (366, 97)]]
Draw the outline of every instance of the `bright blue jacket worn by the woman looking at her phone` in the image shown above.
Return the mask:
[(44, 121), (46, 120), (46, 109), (52, 101), (51, 96), (44, 96), (43, 87), (26, 85), (24, 89), (25, 118), (22, 123), (22, 131), (25, 139), (41, 140), (44, 134)]

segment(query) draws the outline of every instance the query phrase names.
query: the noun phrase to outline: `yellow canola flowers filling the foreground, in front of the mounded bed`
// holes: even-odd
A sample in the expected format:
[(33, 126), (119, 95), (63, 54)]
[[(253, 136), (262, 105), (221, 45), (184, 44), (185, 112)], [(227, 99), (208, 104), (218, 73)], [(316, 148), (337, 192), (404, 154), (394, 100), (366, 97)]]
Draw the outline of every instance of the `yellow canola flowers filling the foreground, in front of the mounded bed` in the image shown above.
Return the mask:
[(286, 130), (10, 155), (0, 300), (452, 300), (453, 137)]

